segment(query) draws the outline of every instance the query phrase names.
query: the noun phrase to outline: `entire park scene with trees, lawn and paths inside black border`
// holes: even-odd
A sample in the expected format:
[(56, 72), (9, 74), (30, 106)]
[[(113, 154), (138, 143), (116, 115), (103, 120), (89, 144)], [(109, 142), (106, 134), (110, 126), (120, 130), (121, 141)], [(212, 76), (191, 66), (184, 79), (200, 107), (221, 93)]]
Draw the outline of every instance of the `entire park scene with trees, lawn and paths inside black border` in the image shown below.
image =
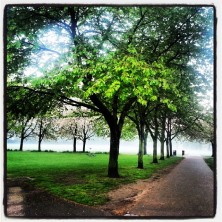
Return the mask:
[(214, 7), (7, 5), (4, 18), (6, 216), (215, 215)]

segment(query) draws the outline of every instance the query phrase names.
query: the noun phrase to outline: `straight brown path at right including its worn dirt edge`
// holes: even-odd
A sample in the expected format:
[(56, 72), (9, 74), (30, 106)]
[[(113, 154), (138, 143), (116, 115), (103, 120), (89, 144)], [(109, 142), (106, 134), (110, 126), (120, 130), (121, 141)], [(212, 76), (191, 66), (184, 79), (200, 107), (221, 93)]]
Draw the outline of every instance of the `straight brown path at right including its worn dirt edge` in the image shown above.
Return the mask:
[(201, 157), (189, 157), (169, 174), (126, 185), (109, 193), (102, 206), (119, 216), (211, 217), (213, 172)]

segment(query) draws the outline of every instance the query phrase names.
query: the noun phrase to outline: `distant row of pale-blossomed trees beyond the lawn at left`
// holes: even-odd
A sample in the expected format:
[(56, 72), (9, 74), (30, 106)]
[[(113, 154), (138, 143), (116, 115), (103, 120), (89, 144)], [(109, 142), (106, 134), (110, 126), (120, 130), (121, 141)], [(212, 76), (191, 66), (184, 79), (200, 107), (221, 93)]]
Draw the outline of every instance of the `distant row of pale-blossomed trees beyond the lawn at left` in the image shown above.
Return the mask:
[(89, 117), (23, 116), (21, 119), (8, 119), (7, 125), (7, 139), (20, 138), (19, 151), (23, 151), (23, 144), (27, 139), (37, 140), (40, 152), (43, 140), (56, 141), (60, 138), (73, 141), (73, 152), (77, 151), (77, 140), (81, 140), (82, 152), (85, 152), (86, 141), (94, 135), (93, 121)]

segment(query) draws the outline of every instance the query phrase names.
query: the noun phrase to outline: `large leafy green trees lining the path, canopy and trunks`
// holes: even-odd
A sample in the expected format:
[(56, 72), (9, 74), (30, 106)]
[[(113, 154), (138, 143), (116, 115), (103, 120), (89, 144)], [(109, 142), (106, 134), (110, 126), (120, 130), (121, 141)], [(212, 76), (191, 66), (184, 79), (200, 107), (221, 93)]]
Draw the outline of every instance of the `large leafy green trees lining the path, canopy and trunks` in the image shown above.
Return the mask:
[[(212, 90), (212, 70), (204, 67), (212, 67), (213, 8), (36, 5), (7, 6), (5, 14), (8, 112), (35, 117), (65, 104), (101, 115), (109, 177), (119, 176), (127, 118), (139, 135), (139, 168), (148, 133), (156, 163), (158, 139), (163, 159), (165, 142), (169, 156), (172, 139), (188, 129), (192, 138), (208, 117), (213, 132), (212, 113), (201, 106)], [(30, 66), (41, 76), (24, 75)]]

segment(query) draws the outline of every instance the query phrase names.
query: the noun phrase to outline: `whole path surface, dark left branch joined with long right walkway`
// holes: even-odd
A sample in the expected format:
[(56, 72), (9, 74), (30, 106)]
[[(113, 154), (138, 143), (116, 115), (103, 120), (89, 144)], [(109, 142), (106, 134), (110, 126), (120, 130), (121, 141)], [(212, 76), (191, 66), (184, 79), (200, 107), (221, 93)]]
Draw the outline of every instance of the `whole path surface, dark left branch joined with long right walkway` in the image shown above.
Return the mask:
[[(7, 215), (28, 218), (110, 216), (210, 217), (214, 215), (213, 172), (200, 157), (110, 192), (97, 208), (54, 197), (44, 191), (10, 186)], [(18, 184), (17, 184), (18, 185)]]

